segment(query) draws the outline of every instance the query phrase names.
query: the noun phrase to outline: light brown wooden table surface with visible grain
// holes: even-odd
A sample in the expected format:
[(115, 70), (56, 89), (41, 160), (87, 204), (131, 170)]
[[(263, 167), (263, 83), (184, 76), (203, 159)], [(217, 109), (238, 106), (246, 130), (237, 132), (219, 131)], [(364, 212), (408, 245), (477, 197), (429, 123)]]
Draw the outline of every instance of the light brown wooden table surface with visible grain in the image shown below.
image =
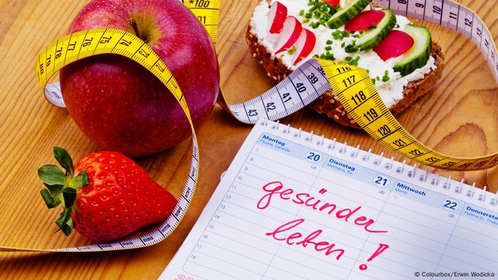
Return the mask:
[[(44, 99), (33, 63), (38, 51), (68, 30), (88, 0), (0, 0), (0, 245), (68, 247), (88, 244), (78, 234), (55, 232), (58, 213), (46, 209), (38, 194), (43, 187), (36, 170), (55, 163), (52, 146), (63, 146), (74, 158), (98, 146), (79, 131), (64, 109)], [(303, 0), (304, 1), (304, 0)], [(224, 0), (219, 36), (221, 85), (228, 102), (241, 102), (273, 85), (245, 45), (245, 24), (257, 0)], [(462, 0), (477, 11), (498, 35), (494, 1)], [(419, 99), (399, 121), (428, 146), (454, 156), (479, 156), (498, 151), (497, 87), (477, 47), (443, 27), (426, 23), (446, 54), (443, 79)], [(315, 134), (347, 141), (363, 149), (385, 151), (362, 131), (346, 129), (309, 109), (282, 120)], [(120, 252), (41, 254), (0, 253), (1, 279), (155, 279), (181, 245), (231, 163), (251, 126), (238, 123), (216, 106), (198, 130), (201, 173), (194, 202), (179, 227), (165, 241), (144, 249)], [(387, 156), (394, 155), (385, 151)], [(137, 162), (177, 197), (188, 171), (189, 141)], [(399, 156), (396, 156), (400, 159)], [(443, 172), (446, 176), (498, 190), (497, 168)]]

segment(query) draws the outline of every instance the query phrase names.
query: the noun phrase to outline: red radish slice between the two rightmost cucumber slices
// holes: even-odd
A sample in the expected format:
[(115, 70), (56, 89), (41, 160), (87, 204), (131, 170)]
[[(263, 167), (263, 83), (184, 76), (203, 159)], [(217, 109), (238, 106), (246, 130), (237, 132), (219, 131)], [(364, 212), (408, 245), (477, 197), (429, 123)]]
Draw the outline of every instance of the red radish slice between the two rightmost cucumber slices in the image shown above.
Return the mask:
[(393, 30), (388, 33), (386, 38), (373, 48), (382, 60), (397, 58), (406, 53), (413, 46), (413, 38), (403, 31)]

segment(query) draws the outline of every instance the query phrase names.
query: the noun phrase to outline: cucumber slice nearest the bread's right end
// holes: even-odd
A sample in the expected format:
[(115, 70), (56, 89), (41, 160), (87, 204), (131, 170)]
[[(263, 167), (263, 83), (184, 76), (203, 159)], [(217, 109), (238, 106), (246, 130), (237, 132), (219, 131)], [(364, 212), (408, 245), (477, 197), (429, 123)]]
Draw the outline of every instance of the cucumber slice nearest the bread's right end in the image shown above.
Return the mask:
[(408, 24), (403, 30), (413, 38), (413, 46), (401, 55), (401, 60), (394, 65), (394, 71), (400, 72), (401, 76), (406, 76), (417, 68), (422, 68), (430, 57), (432, 39), (430, 32), (424, 26)]

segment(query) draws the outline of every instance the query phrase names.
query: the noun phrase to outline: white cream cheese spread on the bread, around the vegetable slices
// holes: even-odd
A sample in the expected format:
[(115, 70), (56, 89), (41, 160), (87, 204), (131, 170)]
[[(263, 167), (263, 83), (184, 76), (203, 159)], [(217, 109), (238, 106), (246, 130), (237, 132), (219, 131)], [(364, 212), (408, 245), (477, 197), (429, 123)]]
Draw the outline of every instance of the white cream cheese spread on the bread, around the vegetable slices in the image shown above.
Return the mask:
[[(277, 0), (272, 0), (271, 3), (275, 1)], [(301, 21), (304, 28), (312, 31), (317, 37), (317, 43), (315, 44), (312, 53), (307, 59), (312, 58), (314, 55), (324, 53), (327, 46), (332, 47), (332, 49), (329, 51), (334, 55), (335, 61), (337, 62), (345, 62), (346, 58), (351, 59), (359, 56), (358, 66), (369, 70), (369, 75), (372, 78), (376, 79), (376, 89), (379, 95), (381, 95), (383, 102), (385, 102), (388, 107), (396, 104), (399, 99), (403, 99), (403, 89), (406, 85), (408, 85), (408, 82), (420, 80), (425, 76), (425, 74), (430, 72), (430, 70), (434, 70), (436, 68), (435, 59), (430, 56), (428, 62), (422, 68), (418, 68), (410, 74), (401, 77), (401, 74), (399, 72), (394, 72), (393, 70), (394, 65), (401, 57), (390, 58), (386, 61), (383, 61), (373, 50), (359, 50), (355, 53), (346, 53), (344, 45), (349, 45), (356, 38), (354, 38), (353, 36), (334, 38), (334, 36), (332, 36), (332, 33), (334, 33), (334, 31), (344, 31), (344, 26), (341, 26), (338, 29), (331, 29), (322, 25), (319, 25), (317, 28), (312, 28), (311, 26), (309, 26), (309, 23), (303, 23), (305, 18), (304, 16), (302, 16), (301, 12), (302, 10), (309, 10), (307, 0), (278, 1), (280, 1), (280, 3), (284, 4), (287, 7), (287, 16), (295, 16), (299, 21)], [(341, 0), (341, 6), (344, 5), (344, 1), (346, 0)], [(369, 9), (376, 8), (371, 8), (371, 6), (369, 5), (365, 10)], [(259, 43), (270, 50), (270, 53), (274, 53), (275, 50), (273, 49), (273, 45), (265, 40), (269, 11), (270, 8), (267, 1), (262, 0), (260, 4), (258, 4), (258, 6), (256, 6), (256, 8), (254, 9), (254, 14), (251, 18), (250, 26), (251, 32), (258, 36)], [(396, 15), (397, 26), (394, 29), (403, 30), (403, 28), (405, 28), (408, 23), (410, 23), (408, 18)], [(327, 41), (329, 41), (329, 44), (327, 44)], [(330, 41), (332, 41), (332, 44), (330, 43)], [(305, 59), (301, 63), (297, 63), (297, 65), (295, 65), (294, 61), (297, 58), (297, 53), (291, 54), (290, 52), (285, 51), (277, 54), (276, 56), (277, 58), (280, 58), (282, 60), (282, 63), (291, 70), (295, 70), (302, 63), (304, 63), (304, 61), (307, 60)], [(386, 76), (388, 77), (388, 80), (383, 79), (383, 77)]]

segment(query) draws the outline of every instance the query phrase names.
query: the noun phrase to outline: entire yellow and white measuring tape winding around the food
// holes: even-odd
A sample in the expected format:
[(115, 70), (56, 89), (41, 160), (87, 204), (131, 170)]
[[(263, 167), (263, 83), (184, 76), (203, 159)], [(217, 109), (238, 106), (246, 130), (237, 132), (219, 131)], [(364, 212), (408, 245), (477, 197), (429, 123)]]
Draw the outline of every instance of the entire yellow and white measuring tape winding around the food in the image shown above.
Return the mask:
[[(494, 77), (498, 79), (498, 63), (495, 62), (498, 55), (496, 46), (487, 26), (474, 11), (448, 0), (381, 0), (378, 3), (390, 8), (396, 14), (438, 23), (469, 36), (480, 46), (488, 62), (492, 65)], [(216, 48), (221, 0), (185, 0), (184, 4), (206, 27)], [(90, 41), (90, 43), (85, 41), (87, 37), (103, 38), (104, 36), (106, 40), (103, 41)], [(58, 249), (0, 247), (0, 251), (92, 252), (147, 247), (168, 237), (184, 217), (194, 195), (198, 179), (196, 133), (189, 108), (178, 83), (166, 64), (146, 43), (134, 34), (112, 28), (81, 31), (58, 39), (38, 55), (35, 65), (36, 74), (41, 87), (45, 90), (46, 99), (55, 106), (65, 107), (59, 85), (57, 83), (47, 85), (48, 79), (65, 65), (92, 55), (105, 53), (123, 55), (151, 71), (173, 93), (184, 109), (187, 119), (189, 119), (192, 131), (191, 166), (178, 204), (168, 219), (156, 230), (140, 237), (81, 247)], [(311, 77), (317, 77), (317, 79)], [(298, 90), (298, 83), (304, 85), (306, 90)], [(233, 117), (240, 122), (254, 124), (261, 117), (271, 120), (286, 117), (302, 109), (330, 88), (357, 124), (374, 139), (407, 158), (435, 168), (456, 171), (480, 170), (498, 165), (498, 153), (475, 158), (457, 158), (440, 154), (421, 144), (389, 112), (366, 70), (352, 65), (312, 59), (259, 97), (240, 104), (228, 105), (224, 102), (223, 93), (221, 93), (221, 102), (223, 107), (228, 109)], [(352, 97), (360, 90), (364, 93), (361, 99), (353, 99)], [(287, 99), (291, 97), (292, 102), (284, 102), (284, 92), (285, 97)], [(370, 114), (367, 114), (368, 112)], [(364, 117), (364, 114), (368, 115), (369, 118)], [(381, 127), (384, 129), (380, 129)], [(383, 134), (379, 131), (383, 131)]]

